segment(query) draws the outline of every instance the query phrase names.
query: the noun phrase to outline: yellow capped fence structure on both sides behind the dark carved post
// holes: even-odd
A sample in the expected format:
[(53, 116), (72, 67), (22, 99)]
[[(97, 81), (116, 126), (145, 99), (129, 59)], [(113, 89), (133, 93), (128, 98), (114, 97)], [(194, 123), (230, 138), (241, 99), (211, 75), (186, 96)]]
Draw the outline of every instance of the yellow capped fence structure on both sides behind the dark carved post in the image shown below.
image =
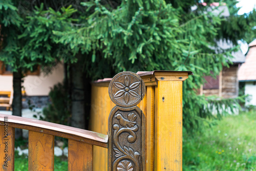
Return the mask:
[[(182, 170), (182, 82), (192, 72), (152, 71), (137, 73), (145, 83), (138, 104), (146, 118), (146, 170)], [(108, 132), (108, 117), (115, 106), (109, 97), (111, 78), (92, 83), (90, 130)], [(108, 150), (93, 149), (94, 170), (108, 170)]]

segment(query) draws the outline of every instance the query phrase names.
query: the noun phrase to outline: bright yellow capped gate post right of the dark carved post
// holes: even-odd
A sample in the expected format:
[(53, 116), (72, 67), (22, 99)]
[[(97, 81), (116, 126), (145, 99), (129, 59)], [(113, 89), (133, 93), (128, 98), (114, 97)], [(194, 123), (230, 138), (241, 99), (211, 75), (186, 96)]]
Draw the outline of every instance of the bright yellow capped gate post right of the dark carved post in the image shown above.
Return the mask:
[[(147, 86), (147, 170), (182, 170), (182, 82), (193, 75), (190, 71), (138, 72)], [(152, 111), (155, 107), (155, 112)], [(153, 155), (154, 154), (154, 155)]]

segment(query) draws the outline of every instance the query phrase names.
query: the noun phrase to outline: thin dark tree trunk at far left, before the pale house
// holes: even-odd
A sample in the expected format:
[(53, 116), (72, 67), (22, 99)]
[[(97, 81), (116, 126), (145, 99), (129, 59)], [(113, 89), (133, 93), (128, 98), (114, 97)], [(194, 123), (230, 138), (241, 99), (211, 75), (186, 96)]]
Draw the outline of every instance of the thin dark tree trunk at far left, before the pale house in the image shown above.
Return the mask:
[[(12, 115), (22, 116), (22, 71), (13, 72)], [(22, 129), (15, 128), (15, 139), (22, 137)]]

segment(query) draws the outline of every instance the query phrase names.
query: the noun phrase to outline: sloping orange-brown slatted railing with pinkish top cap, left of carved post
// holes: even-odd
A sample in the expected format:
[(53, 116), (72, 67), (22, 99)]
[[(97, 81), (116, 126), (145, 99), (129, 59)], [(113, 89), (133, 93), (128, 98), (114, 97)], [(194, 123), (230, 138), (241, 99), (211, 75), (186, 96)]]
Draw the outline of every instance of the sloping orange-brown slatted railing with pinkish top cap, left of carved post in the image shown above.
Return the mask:
[(14, 128), (29, 130), (29, 170), (54, 170), (54, 136), (68, 139), (68, 169), (93, 170), (93, 145), (108, 148), (108, 135), (0, 114), (0, 170), (14, 170)]

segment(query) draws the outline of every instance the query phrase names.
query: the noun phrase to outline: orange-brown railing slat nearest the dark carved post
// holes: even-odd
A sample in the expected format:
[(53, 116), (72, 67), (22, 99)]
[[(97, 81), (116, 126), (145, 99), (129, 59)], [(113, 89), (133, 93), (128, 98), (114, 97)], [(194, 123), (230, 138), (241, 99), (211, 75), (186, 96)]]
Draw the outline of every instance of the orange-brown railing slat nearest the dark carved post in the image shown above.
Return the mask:
[(69, 170), (93, 170), (93, 145), (69, 140)]

